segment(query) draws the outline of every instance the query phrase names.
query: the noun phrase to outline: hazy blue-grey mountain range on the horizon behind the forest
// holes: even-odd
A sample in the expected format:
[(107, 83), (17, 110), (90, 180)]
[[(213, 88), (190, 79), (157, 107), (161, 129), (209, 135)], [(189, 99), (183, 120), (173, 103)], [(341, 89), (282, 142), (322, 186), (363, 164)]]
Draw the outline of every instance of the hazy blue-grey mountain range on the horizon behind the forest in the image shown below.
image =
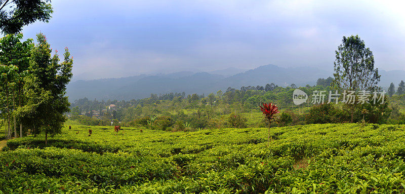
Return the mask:
[[(380, 70), (380, 86), (388, 87), (391, 82), (398, 85), (405, 80), (403, 70)], [(332, 71), (315, 67), (283, 68), (264, 65), (251, 70), (228, 68), (211, 72), (181, 71), (169, 74), (137, 75), (113, 79), (75, 81), (68, 85), (67, 95), (72, 102), (87, 97), (98, 100), (131, 100), (149, 97), (153, 94), (185, 92), (187, 94), (209, 94), (228, 87), (265, 86), (274, 83), (286, 87), (315, 85), (319, 77), (332, 76)]]

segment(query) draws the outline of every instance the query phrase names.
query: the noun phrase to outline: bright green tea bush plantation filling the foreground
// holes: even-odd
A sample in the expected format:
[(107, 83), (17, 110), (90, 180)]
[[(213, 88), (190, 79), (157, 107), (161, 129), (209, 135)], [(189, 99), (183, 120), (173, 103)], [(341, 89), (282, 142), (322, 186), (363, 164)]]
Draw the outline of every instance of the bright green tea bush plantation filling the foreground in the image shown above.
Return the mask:
[(43, 136), (7, 142), (0, 193), (405, 192), (403, 125), (305, 125), (270, 135), (267, 147), (266, 128), (116, 133), (68, 123), (47, 146)]

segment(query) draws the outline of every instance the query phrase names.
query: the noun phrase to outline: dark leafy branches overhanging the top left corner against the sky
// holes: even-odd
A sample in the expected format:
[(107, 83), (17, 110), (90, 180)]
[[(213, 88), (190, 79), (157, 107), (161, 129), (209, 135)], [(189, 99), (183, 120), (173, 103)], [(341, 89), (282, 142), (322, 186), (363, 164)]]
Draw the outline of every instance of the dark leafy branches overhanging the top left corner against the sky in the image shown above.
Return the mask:
[(50, 0), (0, 0), (0, 29), (5, 34), (15, 34), (38, 20), (48, 23), (53, 13), (50, 3)]

